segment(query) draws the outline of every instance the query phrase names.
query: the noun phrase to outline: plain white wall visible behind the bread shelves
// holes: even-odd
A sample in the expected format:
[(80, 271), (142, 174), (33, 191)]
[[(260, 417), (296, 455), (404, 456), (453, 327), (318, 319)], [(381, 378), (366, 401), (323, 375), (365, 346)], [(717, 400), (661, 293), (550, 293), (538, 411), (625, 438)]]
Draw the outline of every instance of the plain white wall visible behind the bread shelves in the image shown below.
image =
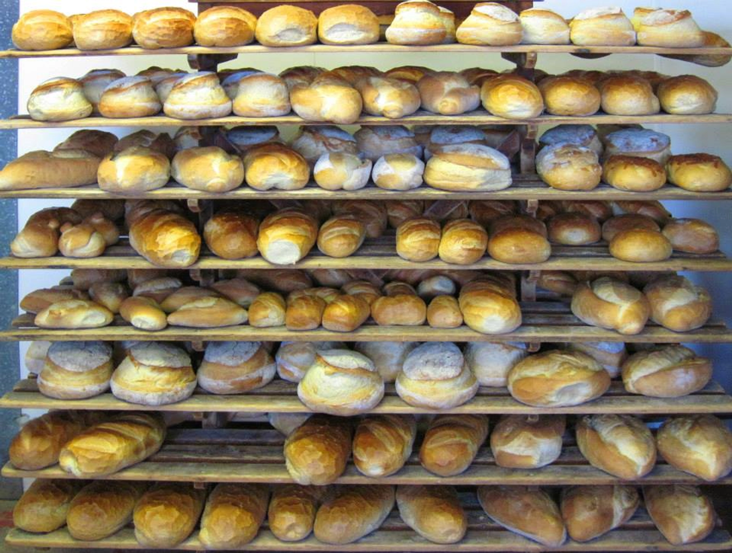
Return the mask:
[[(542, 2), (542, 7), (560, 12), (565, 17), (570, 17), (576, 12), (600, 4), (616, 4), (625, 10), (627, 14), (632, 13), (637, 1), (605, 2), (597, 0), (548, 0)], [(715, 31), (728, 39), (732, 36), (732, 18), (729, 16), (730, 7), (727, 2), (719, 0), (696, 0), (684, 4), (660, 4), (658, 1), (645, 0), (643, 5), (665, 7), (685, 7), (694, 13), (695, 20), (703, 29)], [(125, 11), (133, 13), (139, 10), (149, 9), (155, 5), (169, 5), (195, 9), (195, 4), (184, 0), (165, 0), (158, 3), (149, 0), (127, 0), (119, 2), (113, 0), (94, 1), (94, 9), (101, 10), (108, 7), (122, 7)], [(83, 12), (89, 8), (89, 2), (79, 0), (67, 0), (64, 2), (51, 2), (49, 0), (20, 0), (20, 12), (36, 10), (40, 8), (53, 7), (68, 15), (76, 12)], [(294, 65), (312, 64), (323, 67), (337, 67), (346, 64), (368, 64), (379, 69), (388, 69), (402, 64), (427, 65), (435, 69), (463, 69), (464, 67), (490, 67), (492, 69), (504, 69), (511, 65), (501, 59), (498, 54), (437, 54), (427, 55), (425, 53), (407, 53), (394, 55), (391, 53), (382, 54), (359, 54), (356, 51), (338, 54), (307, 54), (307, 53), (277, 53), (260, 54), (247, 59), (239, 56), (239, 59), (229, 61), (224, 67), (250, 67), (266, 69), (270, 72), (279, 72), (286, 67)], [(19, 91), (19, 113), (26, 113), (25, 99), (31, 90), (42, 80), (55, 76), (79, 77), (92, 68), (115, 66), (128, 74), (133, 74), (140, 69), (150, 65), (162, 67), (187, 67), (185, 56), (129, 56), (116, 58), (83, 57), (77, 59), (26, 59), (20, 61), (20, 91)], [(658, 56), (608, 56), (602, 59), (586, 60), (575, 58), (569, 55), (547, 55), (540, 54), (537, 67), (548, 72), (561, 72), (573, 68), (592, 69), (654, 69), (666, 72), (671, 75), (694, 73), (709, 80), (718, 91), (720, 91), (720, 102), (717, 110), (723, 113), (732, 112), (732, 93), (728, 92), (732, 84), (732, 72), (730, 67), (709, 69), (706, 67), (687, 64), (683, 61), (664, 59)], [(653, 127), (653, 126), (651, 126)], [(717, 154), (725, 158), (728, 164), (732, 164), (732, 154), (728, 144), (732, 143), (732, 125), (657, 125), (653, 128), (671, 135), (673, 153), (692, 153), (705, 151)], [(113, 132), (119, 129), (110, 129)], [(68, 129), (38, 129), (23, 130), (18, 133), (19, 153), (48, 148), (51, 149), (56, 143), (70, 134)], [(125, 133), (122, 133), (125, 134)], [(56, 200), (20, 200), (18, 202), (18, 220), (23, 225), (27, 217), (34, 211), (46, 206), (61, 205)], [(717, 208), (717, 206), (719, 208)], [(722, 236), (722, 250), (732, 253), (732, 222), (728, 217), (728, 203), (706, 202), (669, 202), (668, 208), (677, 217), (701, 217), (711, 222), (720, 230)], [(58, 282), (60, 275), (67, 271), (21, 271), (19, 279), (19, 293), (22, 297), (25, 293), (38, 287), (53, 285)], [(730, 293), (730, 282), (725, 274), (699, 274), (694, 278), (698, 282), (708, 286), (715, 297), (716, 315), (725, 320), (732, 320), (732, 302), (725, 301), (725, 296)], [(731, 353), (732, 348), (714, 345), (712, 347), (700, 347), (709, 355), (717, 359), (717, 367), (722, 366), (722, 354)], [(21, 355), (24, 348), (21, 347)], [(725, 377), (720, 373), (729, 388), (732, 388), (732, 377)]]

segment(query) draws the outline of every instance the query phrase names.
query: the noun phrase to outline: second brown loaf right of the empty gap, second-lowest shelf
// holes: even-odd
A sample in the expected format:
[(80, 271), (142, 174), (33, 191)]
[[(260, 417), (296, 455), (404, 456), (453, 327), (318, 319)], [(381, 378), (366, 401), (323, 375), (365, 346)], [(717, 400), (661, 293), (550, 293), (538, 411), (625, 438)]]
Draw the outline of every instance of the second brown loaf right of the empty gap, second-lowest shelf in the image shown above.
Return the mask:
[(384, 478), (397, 473), (412, 452), (417, 420), (412, 415), (368, 415), (354, 434), (354, 464), (360, 473)]

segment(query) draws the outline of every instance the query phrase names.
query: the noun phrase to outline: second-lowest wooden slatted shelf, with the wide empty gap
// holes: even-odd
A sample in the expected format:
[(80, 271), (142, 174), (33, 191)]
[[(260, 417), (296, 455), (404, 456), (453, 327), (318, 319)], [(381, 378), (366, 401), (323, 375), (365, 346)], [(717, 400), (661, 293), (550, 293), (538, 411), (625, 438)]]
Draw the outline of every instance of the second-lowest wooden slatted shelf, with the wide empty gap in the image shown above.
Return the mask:
[[(176, 482), (261, 482), (291, 484), (285, 468), (284, 436), (273, 429), (172, 429), (163, 448), (145, 461), (108, 475), (104, 480)], [(567, 433), (561, 456), (553, 464), (534, 470), (498, 467), (484, 444), (464, 473), (442, 477), (419, 464), (419, 443), (406, 466), (386, 478), (370, 478), (349, 463), (335, 484), (452, 484), (482, 486), (512, 484), (522, 486), (613, 485), (621, 479), (592, 467), (580, 454)], [(2, 469), (7, 478), (76, 478), (59, 465), (42, 470), (18, 470), (10, 463)], [(714, 483), (682, 473), (660, 461), (637, 484), (732, 484), (732, 476)]]

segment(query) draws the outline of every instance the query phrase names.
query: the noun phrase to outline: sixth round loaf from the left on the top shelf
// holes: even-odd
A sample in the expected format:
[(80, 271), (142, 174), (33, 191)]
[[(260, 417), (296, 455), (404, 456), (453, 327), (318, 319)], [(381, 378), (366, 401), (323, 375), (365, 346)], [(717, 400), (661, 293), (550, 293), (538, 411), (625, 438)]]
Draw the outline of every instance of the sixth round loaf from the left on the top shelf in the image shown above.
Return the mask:
[(318, 39), (323, 44), (372, 44), (378, 35), (378, 18), (365, 6), (342, 4), (318, 16)]

